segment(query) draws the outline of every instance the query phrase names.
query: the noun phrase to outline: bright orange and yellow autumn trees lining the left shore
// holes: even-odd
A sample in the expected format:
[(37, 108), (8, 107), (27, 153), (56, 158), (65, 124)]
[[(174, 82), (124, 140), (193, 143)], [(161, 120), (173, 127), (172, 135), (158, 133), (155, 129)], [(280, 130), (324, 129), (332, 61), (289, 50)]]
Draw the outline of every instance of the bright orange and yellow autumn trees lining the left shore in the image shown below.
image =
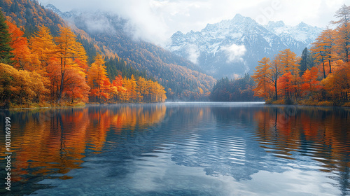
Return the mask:
[[(164, 102), (162, 85), (142, 73), (120, 66), (115, 78), (106, 72), (97, 53), (87, 63), (85, 48), (69, 27), (59, 25), (57, 36), (38, 27), (29, 39), (0, 12), (0, 102), (3, 107), (43, 106), (77, 102)], [(119, 63), (119, 62), (118, 62)], [(113, 59), (109, 59), (113, 64)], [(119, 63), (120, 64), (120, 63)], [(121, 63), (123, 64), (123, 63)], [(118, 68), (118, 67), (116, 67)], [(123, 75), (131, 74), (130, 78)], [(133, 73), (138, 75), (135, 79)]]

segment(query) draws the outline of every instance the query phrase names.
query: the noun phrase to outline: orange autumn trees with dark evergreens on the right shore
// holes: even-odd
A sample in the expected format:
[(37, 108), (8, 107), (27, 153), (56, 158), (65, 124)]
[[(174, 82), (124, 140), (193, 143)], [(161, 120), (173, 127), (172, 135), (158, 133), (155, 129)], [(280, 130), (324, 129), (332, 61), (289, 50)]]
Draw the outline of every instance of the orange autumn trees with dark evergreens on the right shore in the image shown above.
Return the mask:
[(342, 6), (301, 57), (289, 49), (262, 58), (252, 76), (255, 96), (276, 104), (350, 106), (350, 7)]

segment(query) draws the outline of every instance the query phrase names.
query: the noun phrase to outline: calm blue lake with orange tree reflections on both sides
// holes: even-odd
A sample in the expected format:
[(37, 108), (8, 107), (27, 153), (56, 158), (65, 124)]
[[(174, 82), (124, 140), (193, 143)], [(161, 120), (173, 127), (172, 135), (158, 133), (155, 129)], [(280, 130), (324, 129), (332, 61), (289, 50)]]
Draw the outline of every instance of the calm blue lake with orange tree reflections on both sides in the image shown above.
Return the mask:
[(0, 117), (3, 195), (350, 195), (350, 109), (119, 104)]

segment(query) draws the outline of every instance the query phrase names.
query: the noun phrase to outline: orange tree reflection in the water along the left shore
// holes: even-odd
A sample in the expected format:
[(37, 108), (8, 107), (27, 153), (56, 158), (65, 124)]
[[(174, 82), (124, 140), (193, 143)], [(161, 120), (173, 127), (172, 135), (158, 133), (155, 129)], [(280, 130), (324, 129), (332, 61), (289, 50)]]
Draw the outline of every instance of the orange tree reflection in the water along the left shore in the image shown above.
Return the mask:
[[(165, 116), (166, 106), (90, 106), (70, 109), (34, 109), (6, 111), (1, 119), (11, 120), (12, 182), (15, 191), (28, 190), (45, 178), (71, 179), (66, 175), (79, 169), (90, 153), (101, 153), (106, 148), (108, 132), (144, 128), (158, 123)], [(3, 122), (0, 123), (4, 127)], [(4, 132), (0, 134), (4, 138)], [(0, 140), (5, 152), (4, 139)], [(5, 162), (1, 159), (1, 165)], [(1, 171), (1, 176), (5, 173)], [(53, 175), (52, 175), (53, 174)], [(23, 186), (32, 186), (31, 188)], [(6, 193), (6, 192), (5, 192)]]

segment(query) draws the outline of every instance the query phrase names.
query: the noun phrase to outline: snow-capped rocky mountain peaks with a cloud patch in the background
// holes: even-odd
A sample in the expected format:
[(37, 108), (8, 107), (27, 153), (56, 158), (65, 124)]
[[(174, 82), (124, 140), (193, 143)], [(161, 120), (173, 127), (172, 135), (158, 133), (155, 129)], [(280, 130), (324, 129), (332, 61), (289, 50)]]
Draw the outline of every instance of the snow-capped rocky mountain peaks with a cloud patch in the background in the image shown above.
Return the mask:
[(286, 48), (300, 55), (321, 31), (304, 22), (295, 27), (281, 21), (263, 26), (237, 14), (232, 20), (209, 24), (201, 31), (177, 31), (167, 49), (190, 59), (214, 78), (237, 78), (253, 73), (262, 57), (273, 57)]

